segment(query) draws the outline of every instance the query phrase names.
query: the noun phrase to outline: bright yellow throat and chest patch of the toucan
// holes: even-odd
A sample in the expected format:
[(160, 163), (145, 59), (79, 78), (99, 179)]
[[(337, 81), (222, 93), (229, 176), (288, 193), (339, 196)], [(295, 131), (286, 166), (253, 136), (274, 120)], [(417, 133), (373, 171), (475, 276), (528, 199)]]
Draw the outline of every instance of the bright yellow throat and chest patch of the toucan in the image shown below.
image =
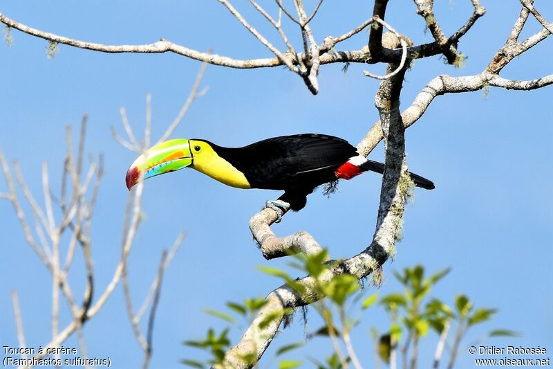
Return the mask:
[(252, 188), (250, 182), (242, 172), (232, 166), (231, 163), (216, 154), (205, 155), (201, 160), (194, 160), (192, 168), (216, 179), (227, 186), (236, 188)]

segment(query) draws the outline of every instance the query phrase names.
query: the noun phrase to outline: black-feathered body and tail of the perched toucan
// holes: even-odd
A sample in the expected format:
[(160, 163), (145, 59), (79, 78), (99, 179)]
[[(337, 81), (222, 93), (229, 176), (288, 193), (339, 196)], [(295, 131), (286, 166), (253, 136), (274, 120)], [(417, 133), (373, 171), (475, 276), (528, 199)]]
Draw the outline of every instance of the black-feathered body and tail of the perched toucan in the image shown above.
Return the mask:
[[(243, 173), (250, 188), (284, 190), (279, 200), (288, 202), (292, 210), (306, 206), (306, 197), (324, 183), (350, 179), (366, 170), (382, 173), (384, 165), (368, 161), (359, 155), (348, 141), (326, 134), (296, 134), (279, 136), (244, 147), (221, 147), (204, 140), (214, 152)], [(350, 159), (358, 165), (350, 164)], [(355, 167), (355, 168), (354, 168)], [(433, 183), (413, 174), (415, 183), (433, 188)], [(417, 179), (420, 179), (417, 181)]]

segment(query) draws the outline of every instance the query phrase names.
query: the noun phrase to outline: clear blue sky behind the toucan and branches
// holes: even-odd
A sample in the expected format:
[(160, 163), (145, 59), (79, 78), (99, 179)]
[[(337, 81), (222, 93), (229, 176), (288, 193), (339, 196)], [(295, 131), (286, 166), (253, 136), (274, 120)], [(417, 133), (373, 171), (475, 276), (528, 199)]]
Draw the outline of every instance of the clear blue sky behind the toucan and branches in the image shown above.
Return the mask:
[[(275, 44), (279, 39), (245, 1), (234, 1)], [(265, 2), (261, 2), (265, 4)], [(268, 2), (267, 8), (274, 3)], [(424, 23), (407, 5), (392, 1), (386, 21), (415, 43), (429, 42)], [(402, 107), (407, 107), (431, 78), (441, 73), (471, 75), (482, 71), (503, 45), (520, 10), (518, 1), (482, 1), (487, 15), (463, 37), (460, 50), (468, 56), (462, 69), (447, 66), (438, 57), (417, 60), (406, 75)], [(371, 15), (371, 1), (349, 1), (348, 6), (327, 1), (313, 21), (318, 40), (341, 35)], [(553, 4), (536, 1), (536, 7), (553, 19)], [(272, 8), (271, 8), (272, 9)], [(14, 1), (2, 2), (0, 11), (24, 24), (49, 32), (106, 44), (145, 44), (163, 37), (178, 44), (239, 59), (268, 57), (270, 52), (229, 15), (217, 1)], [(443, 1), (436, 14), (445, 33), (463, 24), (471, 13), (469, 1)], [(288, 24), (288, 33), (295, 28)], [(530, 19), (524, 35), (539, 27)], [(178, 113), (194, 82), (199, 63), (170, 54), (109, 55), (59, 46), (55, 59), (46, 58), (46, 42), (17, 31), (11, 47), (0, 46), (0, 147), (18, 159), (30, 189), (41, 197), (40, 165), (46, 160), (59, 188), (65, 153), (64, 127), (74, 131), (82, 114), (89, 115), (86, 152), (103, 152), (106, 174), (100, 188), (93, 223), (93, 256), (97, 288), (109, 282), (120, 255), (120, 228), (127, 190), (124, 174), (135, 154), (111, 137), (110, 125), (122, 132), (119, 108), (126, 107), (131, 125), (144, 125), (144, 101), (153, 98), (153, 138), (157, 139)], [(299, 39), (292, 37), (299, 45)], [(358, 49), (366, 33), (344, 43), (341, 49)], [(280, 44), (279, 44), (280, 46)], [(506, 78), (531, 79), (552, 73), (545, 55), (547, 39), (514, 60)], [(346, 138), (354, 145), (377, 120), (373, 96), (378, 82), (364, 77), (363, 69), (384, 71), (384, 66), (323, 66), (321, 91), (312, 94), (297, 75), (281, 67), (243, 71), (209, 66), (206, 96), (191, 107), (173, 138), (206, 138), (218, 145), (239, 146), (262, 138), (321, 132)], [(386, 294), (400, 287), (391, 270), (417, 263), (429, 271), (452, 267), (435, 289), (435, 296), (452, 303), (467, 294), (478, 306), (497, 307), (491, 323), (478, 327), (469, 339), (503, 327), (521, 332), (514, 339), (489, 340), (490, 345), (523, 345), (553, 350), (553, 262), (551, 210), (553, 128), (549, 105), (551, 87), (529, 92), (490, 89), (436, 98), (406, 132), (409, 168), (432, 179), (433, 191), (417, 190), (406, 211), (404, 240), (397, 258), (384, 267)], [(76, 136), (75, 136), (76, 138)], [(371, 154), (382, 160), (382, 147)], [(277, 235), (306, 229), (327, 246), (333, 258), (355, 255), (371, 242), (377, 215), (380, 180), (365, 174), (342, 181), (339, 192), (326, 199), (320, 191), (308, 206), (288, 214), (274, 226)], [(0, 181), (0, 192), (6, 190)], [(265, 261), (247, 228), (251, 215), (278, 192), (228, 188), (192, 170), (158, 177), (146, 183), (144, 213), (129, 273), (135, 304), (155, 276), (162, 249), (180, 231), (187, 237), (165, 276), (154, 332), (151, 368), (179, 368), (185, 357), (200, 357), (180, 345), (198, 339), (208, 327), (223, 327), (202, 309), (223, 309), (228, 300), (264, 296), (279, 281), (263, 276), (257, 265), (282, 267), (285, 260)], [(48, 271), (24, 242), (17, 218), (7, 201), (0, 201), (0, 345), (17, 345), (12, 320), (10, 289), (17, 289), (30, 347), (44, 345), (50, 334), (50, 279)], [(82, 262), (77, 259), (76, 265)], [(81, 295), (80, 265), (71, 276)], [(244, 287), (247, 285), (247, 287)], [(368, 289), (367, 293), (373, 291)], [(65, 315), (64, 318), (67, 318)], [(309, 326), (317, 328), (314, 312)], [(362, 361), (372, 365), (368, 327), (385, 330), (388, 321), (375, 309), (366, 314), (353, 336)], [(301, 340), (301, 318), (284, 330), (274, 346)], [(115, 368), (135, 368), (142, 360), (126, 320), (122, 290), (118, 287), (102, 312), (85, 327), (91, 357), (111, 358)], [(234, 342), (241, 333), (234, 331)], [(422, 360), (430, 362), (435, 338), (423, 346)], [(66, 344), (75, 346), (71, 339)], [(261, 361), (272, 368), (272, 347)], [(308, 345), (312, 356), (326, 354), (330, 343)], [(297, 356), (294, 354), (291, 357)], [(299, 355), (303, 357), (303, 354)], [(462, 352), (459, 368), (471, 367)], [(421, 363), (421, 368), (425, 363)]]

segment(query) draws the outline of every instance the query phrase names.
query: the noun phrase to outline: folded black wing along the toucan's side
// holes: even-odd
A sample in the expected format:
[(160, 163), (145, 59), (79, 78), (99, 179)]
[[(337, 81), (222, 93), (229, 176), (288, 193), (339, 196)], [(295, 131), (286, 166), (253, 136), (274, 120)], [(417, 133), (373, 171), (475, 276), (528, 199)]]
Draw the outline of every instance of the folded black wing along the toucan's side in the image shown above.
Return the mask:
[(325, 134), (280, 136), (223, 150), (221, 154), (245, 174), (253, 188), (272, 190), (312, 190), (336, 179), (334, 171), (357, 155), (348, 141)]

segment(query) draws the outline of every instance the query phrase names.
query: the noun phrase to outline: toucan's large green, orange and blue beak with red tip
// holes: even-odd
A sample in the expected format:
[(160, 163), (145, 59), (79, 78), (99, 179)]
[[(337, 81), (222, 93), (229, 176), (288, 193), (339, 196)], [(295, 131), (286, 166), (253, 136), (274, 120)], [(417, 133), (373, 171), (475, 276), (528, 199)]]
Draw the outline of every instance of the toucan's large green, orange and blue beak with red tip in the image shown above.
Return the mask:
[(126, 188), (133, 188), (144, 173), (144, 179), (174, 172), (194, 164), (190, 143), (181, 138), (162, 142), (151, 147), (146, 154), (138, 156), (126, 172)]

